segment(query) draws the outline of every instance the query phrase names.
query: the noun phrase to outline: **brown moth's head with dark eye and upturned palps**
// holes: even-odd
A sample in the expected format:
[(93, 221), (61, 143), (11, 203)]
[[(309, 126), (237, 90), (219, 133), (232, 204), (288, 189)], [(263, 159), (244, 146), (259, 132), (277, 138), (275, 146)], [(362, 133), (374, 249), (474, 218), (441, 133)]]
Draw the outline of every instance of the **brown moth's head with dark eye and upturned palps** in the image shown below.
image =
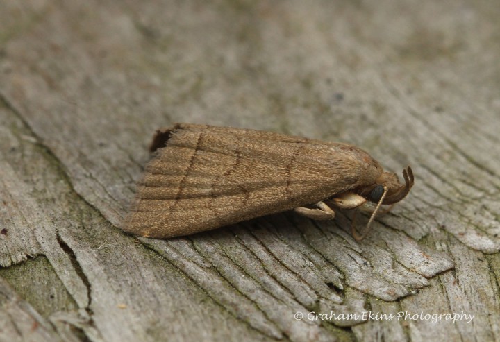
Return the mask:
[(376, 185), (374, 185), (372, 189), (369, 189), (367, 193), (367, 200), (372, 203), (378, 203), (378, 201), (381, 200), (384, 191), (386, 191), (382, 204), (388, 205), (399, 202), (405, 198), (406, 195), (408, 195), (408, 192), (410, 192), (410, 189), (415, 181), (410, 166), (403, 170), (403, 177), (405, 183), (401, 184), (396, 173), (382, 173), (376, 180)]

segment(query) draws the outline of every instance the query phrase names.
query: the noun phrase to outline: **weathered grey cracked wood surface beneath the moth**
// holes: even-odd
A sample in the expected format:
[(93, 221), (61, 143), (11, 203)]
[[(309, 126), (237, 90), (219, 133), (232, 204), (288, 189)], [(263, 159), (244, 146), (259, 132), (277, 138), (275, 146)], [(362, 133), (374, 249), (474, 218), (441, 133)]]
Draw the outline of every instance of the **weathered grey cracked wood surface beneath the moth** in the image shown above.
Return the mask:
[[(500, 341), (499, 15), (3, 1), (0, 341)], [(151, 134), (176, 121), (349, 142), (416, 185), (361, 243), (348, 213), (124, 234)], [(475, 316), (307, 319), (369, 310)]]

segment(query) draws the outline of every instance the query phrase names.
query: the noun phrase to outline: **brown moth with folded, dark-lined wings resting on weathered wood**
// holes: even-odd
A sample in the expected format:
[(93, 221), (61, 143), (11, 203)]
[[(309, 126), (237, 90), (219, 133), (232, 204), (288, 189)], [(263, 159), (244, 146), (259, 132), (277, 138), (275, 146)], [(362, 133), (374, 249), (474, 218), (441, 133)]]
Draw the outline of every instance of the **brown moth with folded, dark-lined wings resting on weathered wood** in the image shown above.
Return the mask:
[[(402, 200), (405, 184), (362, 149), (273, 132), (176, 123), (158, 130), (122, 229), (144, 237), (194, 234), (294, 209), (333, 219), (330, 205), (372, 211)], [(328, 204), (327, 204), (328, 203)]]

